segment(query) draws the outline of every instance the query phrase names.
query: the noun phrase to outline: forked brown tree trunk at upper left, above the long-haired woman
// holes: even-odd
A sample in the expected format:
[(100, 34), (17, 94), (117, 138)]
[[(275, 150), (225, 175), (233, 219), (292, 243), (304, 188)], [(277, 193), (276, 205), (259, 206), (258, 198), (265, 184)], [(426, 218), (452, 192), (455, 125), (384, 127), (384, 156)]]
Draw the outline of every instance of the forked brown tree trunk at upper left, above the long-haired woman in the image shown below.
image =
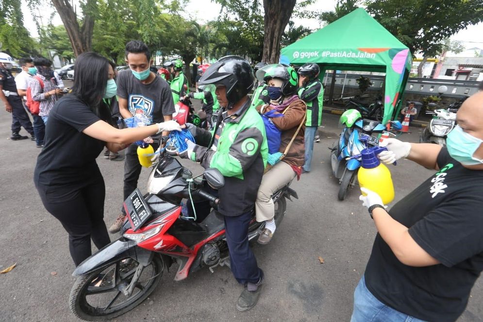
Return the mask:
[[(84, 13), (82, 27), (79, 26), (77, 14), (70, 5), (69, 0), (52, 0), (55, 9), (64, 23), (67, 35), (74, 55), (77, 57), (81, 53), (90, 51), (92, 44), (92, 33), (94, 31), (94, 18), (89, 12)], [(96, 0), (87, 0), (85, 7), (93, 9), (96, 6)]]

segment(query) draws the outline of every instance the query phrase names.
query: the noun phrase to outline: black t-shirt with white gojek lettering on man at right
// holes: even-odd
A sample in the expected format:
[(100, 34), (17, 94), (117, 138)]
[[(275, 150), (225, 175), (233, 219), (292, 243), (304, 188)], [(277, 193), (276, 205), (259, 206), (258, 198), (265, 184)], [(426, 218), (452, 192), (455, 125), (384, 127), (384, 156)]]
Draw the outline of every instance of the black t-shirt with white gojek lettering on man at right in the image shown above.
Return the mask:
[(483, 171), (464, 168), (446, 149), (440, 170), (396, 203), (389, 214), (441, 264), (402, 264), (378, 234), (366, 285), (390, 307), (427, 321), (455, 321), (483, 270)]

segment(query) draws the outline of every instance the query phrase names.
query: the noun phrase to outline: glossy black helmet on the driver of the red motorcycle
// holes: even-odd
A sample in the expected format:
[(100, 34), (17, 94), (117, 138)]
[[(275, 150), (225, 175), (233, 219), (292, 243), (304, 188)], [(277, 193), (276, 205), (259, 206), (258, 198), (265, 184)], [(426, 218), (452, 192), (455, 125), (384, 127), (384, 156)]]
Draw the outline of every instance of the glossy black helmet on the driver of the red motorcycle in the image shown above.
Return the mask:
[(245, 97), (253, 87), (253, 70), (249, 62), (240, 56), (225, 56), (208, 67), (198, 85), (224, 85), (228, 108)]

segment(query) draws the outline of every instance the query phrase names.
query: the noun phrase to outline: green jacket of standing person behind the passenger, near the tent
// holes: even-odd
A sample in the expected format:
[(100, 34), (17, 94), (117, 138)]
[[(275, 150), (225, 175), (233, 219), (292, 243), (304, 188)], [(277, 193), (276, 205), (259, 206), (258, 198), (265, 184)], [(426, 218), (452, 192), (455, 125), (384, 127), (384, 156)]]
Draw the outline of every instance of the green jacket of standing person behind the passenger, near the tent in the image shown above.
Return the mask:
[(307, 104), (307, 121), (305, 126), (320, 126), (322, 123), (322, 104), (324, 87), (318, 80), (299, 88), (300, 100)]

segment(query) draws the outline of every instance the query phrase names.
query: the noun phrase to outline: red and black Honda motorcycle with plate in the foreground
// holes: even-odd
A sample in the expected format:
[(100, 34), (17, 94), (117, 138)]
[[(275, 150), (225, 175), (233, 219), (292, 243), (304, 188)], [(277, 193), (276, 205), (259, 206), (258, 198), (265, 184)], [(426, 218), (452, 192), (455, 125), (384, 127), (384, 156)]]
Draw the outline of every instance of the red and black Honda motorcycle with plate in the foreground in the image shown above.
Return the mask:
[[(224, 177), (217, 169), (205, 169), (193, 178), (177, 159), (161, 153), (150, 173), (148, 193), (142, 195), (136, 189), (124, 201), (128, 216), (121, 236), (74, 271), (78, 278), (69, 296), (72, 313), (83, 320), (100, 321), (128, 312), (151, 294), (174, 262), (178, 264), (176, 281), (205, 266), (211, 272), (217, 266), (229, 267), (223, 216), (217, 212), (220, 201), (205, 191), (223, 185)], [(291, 197), (298, 199), (289, 185), (272, 197), (277, 225), (285, 215), (285, 198)], [(189, 217), (183, 206), (187, 198), (208, 200), (213, 209), (206, 218)], [(258, 237), (263, 226), (253, 215), (249, 239)]]

